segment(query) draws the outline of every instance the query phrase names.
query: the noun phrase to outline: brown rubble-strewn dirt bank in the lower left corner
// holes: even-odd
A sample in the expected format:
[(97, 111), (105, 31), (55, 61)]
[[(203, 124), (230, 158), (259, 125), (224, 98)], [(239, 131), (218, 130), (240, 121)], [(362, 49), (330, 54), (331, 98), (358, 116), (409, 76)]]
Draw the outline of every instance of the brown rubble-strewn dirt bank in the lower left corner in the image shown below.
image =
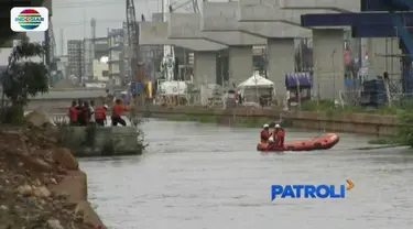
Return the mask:
[(86, 174), (55, 133), (0, 129), (0, 229), (105, 228), (87, 201)]

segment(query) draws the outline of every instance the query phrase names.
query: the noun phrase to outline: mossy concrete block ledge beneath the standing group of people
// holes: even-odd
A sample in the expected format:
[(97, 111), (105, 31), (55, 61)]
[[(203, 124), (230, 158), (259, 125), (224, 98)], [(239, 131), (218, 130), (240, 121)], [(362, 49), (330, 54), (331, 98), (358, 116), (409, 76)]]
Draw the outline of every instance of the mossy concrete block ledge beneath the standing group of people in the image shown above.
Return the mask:
[(67, 127), (61, 129), (64, 144), (76, 156), (137, 155), (142, 153), (134, 127)]

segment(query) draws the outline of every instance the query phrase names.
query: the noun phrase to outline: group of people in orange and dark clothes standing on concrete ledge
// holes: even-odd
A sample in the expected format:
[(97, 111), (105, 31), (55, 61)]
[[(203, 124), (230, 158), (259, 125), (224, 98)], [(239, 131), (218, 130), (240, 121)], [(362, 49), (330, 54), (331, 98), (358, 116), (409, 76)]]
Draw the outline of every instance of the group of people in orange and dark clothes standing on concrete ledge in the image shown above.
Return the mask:
[[(72, 106), (68, 108), (67, 116), (69, 118), (69, 124), (73, 127), (87, 127), (87, 126), (107, 126), (107, 116), (109, 107), (102, 105), (95, 107), (95, 101), (72, 101)], [(111, 108), (111, 126), (118, 124), (127, 126), (122, 115), (129, 111), (130, 108), (123, 105), (121, 99), (117, 99), (113, 107)]]

